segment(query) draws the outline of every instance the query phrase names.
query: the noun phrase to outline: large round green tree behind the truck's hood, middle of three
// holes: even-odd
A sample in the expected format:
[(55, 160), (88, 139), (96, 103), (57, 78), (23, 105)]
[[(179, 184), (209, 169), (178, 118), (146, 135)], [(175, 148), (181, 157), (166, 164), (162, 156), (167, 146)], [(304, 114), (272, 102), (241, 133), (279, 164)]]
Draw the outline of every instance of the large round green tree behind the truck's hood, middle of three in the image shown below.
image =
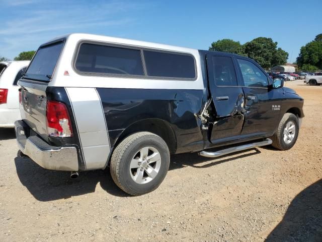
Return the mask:
[(245, 43), (245, 52), (264, 69), (270, 69), (280, 63), (284, 64), (288, 57), (287, 52), (281, 48), (277, 49), (277, 42), (266, 37), (259, 37)]

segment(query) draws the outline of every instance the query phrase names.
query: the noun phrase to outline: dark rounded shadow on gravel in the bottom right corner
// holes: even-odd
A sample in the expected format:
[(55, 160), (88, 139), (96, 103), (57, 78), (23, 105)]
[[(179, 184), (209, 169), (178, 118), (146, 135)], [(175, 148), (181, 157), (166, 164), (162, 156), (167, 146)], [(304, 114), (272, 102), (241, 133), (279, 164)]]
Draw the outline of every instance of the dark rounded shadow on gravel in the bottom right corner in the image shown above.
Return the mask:
[(293, 199), (266, 241), (322, 241), (322, 179)]

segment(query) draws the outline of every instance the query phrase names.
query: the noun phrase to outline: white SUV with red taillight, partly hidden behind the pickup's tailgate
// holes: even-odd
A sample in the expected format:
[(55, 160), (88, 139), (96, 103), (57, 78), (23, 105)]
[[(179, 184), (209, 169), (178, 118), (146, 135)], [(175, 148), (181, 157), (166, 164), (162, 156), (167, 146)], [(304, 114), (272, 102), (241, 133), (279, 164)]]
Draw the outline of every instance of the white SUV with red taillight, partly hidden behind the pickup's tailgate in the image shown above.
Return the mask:
[(15, 121), (21, 119), (17, 82), (29, 63), (30, 61), (0, 62), (0, 128), (14, 128)]

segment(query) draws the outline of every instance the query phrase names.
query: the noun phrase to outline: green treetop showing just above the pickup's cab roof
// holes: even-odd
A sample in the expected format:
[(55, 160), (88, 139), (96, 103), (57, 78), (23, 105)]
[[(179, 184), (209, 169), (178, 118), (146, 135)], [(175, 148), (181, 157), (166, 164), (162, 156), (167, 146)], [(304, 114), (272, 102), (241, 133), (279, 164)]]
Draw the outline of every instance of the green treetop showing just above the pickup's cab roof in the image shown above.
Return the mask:
[(245, 55), (244, 46), (239, 41), (232, 39), (220, 39), (212, 42), (209, 50)]

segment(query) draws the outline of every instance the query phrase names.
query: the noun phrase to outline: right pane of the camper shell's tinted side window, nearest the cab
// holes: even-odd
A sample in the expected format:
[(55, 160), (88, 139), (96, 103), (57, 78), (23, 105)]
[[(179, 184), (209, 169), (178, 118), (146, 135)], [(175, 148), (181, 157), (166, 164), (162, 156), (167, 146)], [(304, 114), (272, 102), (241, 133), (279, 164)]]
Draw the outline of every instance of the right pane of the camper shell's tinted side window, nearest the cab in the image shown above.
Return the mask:
[(143, 50), (147, 76), (164, 78), (196, 77), (195, 60), (191, 55)]

